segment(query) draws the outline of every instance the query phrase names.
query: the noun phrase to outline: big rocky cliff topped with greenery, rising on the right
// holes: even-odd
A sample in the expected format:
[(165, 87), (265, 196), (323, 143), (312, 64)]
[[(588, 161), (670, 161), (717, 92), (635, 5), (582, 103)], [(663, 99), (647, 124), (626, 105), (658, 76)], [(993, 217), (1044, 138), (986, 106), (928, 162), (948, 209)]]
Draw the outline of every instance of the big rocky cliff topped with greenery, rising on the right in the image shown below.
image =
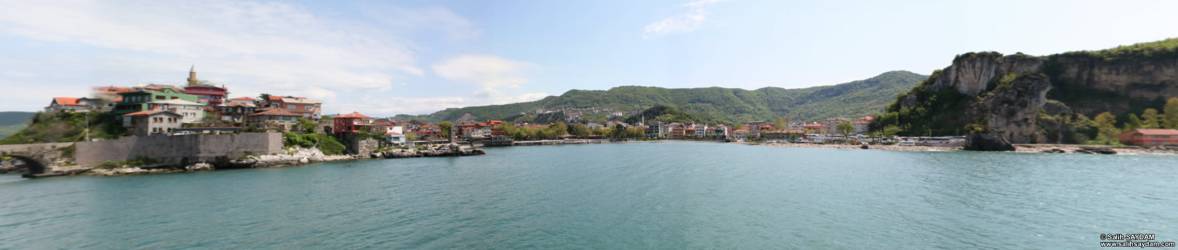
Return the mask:
[(878, 127), (898, 126), (908, 135), (984, 133), (1010, 143), (1070, 143), (1077, 114), (1160, 109), (1176, 96), (1178, 39), (1047, 56), (966, 53), (898, 96)]

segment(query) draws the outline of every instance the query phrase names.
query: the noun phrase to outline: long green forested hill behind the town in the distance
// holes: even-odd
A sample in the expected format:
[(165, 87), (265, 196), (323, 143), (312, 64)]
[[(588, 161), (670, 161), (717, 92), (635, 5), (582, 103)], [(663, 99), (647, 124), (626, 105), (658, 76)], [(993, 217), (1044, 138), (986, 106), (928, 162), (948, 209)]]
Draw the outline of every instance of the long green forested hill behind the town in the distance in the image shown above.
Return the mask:
[(785, 89), (766, 87), (740, 88), (660, 88), (623, 86), (609, 90), (569, 90), (560, 96), (510, 104), (450, 108), (430, 115), (398, 115), (398, 120), (455, 121), (464, 114), (475, 120), (498, 120), (540, 108), (611, 108), (642, 110), (667, 106), (687, 113), (733, 122), (772, 120), (793, 114), (795, 121), (849, 117), (879, 114), (896, 94), (912, 89), (928, 77), (895, 70), (878, 76), (834, 86)]

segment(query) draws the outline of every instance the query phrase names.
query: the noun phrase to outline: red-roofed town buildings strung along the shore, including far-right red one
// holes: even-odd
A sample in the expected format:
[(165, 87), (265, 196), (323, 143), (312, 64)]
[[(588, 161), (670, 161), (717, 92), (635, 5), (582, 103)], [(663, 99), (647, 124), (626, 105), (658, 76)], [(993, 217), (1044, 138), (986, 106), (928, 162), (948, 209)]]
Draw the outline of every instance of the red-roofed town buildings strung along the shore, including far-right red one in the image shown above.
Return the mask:
[[(426, 123), (373, 117), (360, 112), (323, 114), (319, 100), (260, 94), (232, 97), (226, 86), (214, 86), (188, 70), (187, 85), (139, 83), (135, 86), (91, 87), (86, 97), (53, 97), (45, 113), (101, 112), (120, 117), (126, 136), (167, 136), (238, 131), (325, 133), (344, 140), (349, 134), (379, 134), (382, 146), (404, 147), (422, 142), (459, 142), (470, 146), (512, 146), (512, 141), (680, 138), (770, 141), (775, 143), (858, 144), (860, 142), (899, 146), (949, 146), (965, 136), (895, 136), (895, 131), (872, 129), (873, 116), (855, 120), (829, 117), (820, 121), (753, 121), (743, 124), (707, 124), (693, 121), (648, 121), (627, 123), (641, 110), (609, 108), (540, 108), (521, 115), (561, 113), (560, 122), (534, 124), (512, 121), (468, 121)], [(604, 116), (597, 121), (582, 116)], [(604, 121), (604, 122), (600, 122)], [(1117, 141), (1127, 146), (1178, 144), (1178, 130), (1138, 128), (1124, 131)], [(525, 143), (527, 144), (527, 143)]]

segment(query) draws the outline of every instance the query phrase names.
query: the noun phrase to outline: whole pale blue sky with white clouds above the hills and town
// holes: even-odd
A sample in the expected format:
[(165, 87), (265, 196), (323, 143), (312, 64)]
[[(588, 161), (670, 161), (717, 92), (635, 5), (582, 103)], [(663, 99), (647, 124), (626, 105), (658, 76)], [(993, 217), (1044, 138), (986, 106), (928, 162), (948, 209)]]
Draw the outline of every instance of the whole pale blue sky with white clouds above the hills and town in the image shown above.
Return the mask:
[(324, 114), (429, 114), (569, 89), (803, 88), (967, 52), (1178, 38), (1178, 1), (0, 0), (0, 110), (88, 86), (224, 85)]

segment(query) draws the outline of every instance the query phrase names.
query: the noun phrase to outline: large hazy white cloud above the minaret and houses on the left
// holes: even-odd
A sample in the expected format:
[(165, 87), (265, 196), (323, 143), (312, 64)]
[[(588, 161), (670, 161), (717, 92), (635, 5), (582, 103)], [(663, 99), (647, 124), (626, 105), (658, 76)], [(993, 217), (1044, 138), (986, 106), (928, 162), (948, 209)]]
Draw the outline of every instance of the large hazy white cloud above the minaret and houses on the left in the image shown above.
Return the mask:
[(11, 69), (0, 77), (11, 82), (77, 69), (84, 72), (67, 73), (105, 79), (74, 82), (75, 88), (181, 85), (187, 66), (196, 63), (198, 77), (216, 79), (234, 96), (271, 93), (327, 101), (344, 93), (389, 90), (393, 82), (423, 75), (415, 58), (421, 48), (405, 33), (479, 35), (470, 21), (443, 8), (392, 9), (396, 22), (373, 23), (283, 2), (0, 1), (0, 34), (98, 48), (93, 58), (59, 60), (70, 65), (21, 63), (25, 70)]

